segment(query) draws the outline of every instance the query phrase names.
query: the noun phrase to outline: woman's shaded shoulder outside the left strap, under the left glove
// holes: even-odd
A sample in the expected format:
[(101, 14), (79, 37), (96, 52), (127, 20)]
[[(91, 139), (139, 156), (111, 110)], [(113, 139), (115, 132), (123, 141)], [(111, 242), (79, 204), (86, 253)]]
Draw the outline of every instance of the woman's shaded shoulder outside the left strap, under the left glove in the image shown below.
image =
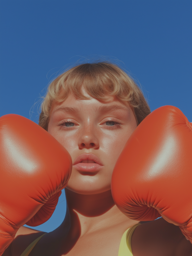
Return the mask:
[(44, 233), (46, 232), (21, 227), (2, 256), (21, 256), (26, 247)]

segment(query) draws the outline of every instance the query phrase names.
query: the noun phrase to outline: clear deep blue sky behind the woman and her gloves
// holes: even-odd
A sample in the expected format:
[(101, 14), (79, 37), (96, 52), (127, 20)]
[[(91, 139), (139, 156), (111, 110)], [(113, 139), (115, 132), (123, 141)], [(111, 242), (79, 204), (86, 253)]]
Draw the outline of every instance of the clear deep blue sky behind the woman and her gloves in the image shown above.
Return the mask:
[[(127, 70), (152, 110), (173, 105), (192, 121), (191, 11), (192, 0), (0, 0), (0, 116), (37, 121), (49, 81), (100, 59)], [(64, 213), (63, 194), (37, 229)]]

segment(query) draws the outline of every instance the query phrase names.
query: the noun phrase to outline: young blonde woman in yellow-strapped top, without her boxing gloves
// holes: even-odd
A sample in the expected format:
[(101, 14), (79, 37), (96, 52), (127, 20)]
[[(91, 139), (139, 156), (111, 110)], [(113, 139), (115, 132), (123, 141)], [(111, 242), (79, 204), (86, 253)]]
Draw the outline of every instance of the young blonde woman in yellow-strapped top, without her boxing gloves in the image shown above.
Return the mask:
[(53, 81), (39, 125), (72, 157), (66, 216), (46, 234), (21, 227), (3, 256), (192, 255), (192, 244), (179, 227), (163, 218), (139, 225), (120, 212), (111, 196), (120, 152), (149, 113), (140, 89), (113, 64), (82, 64)]

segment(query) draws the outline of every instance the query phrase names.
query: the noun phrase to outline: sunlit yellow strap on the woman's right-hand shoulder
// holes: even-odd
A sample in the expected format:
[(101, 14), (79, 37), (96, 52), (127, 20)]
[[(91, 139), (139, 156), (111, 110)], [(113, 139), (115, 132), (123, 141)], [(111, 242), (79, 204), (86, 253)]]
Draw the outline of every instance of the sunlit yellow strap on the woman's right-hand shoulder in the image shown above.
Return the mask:
[(132, 255), (132, 234), (140, 223), (135, 224), (131, 228), (127, 229), (120, 240), (120, 248), (118, 256), (133, 256)]

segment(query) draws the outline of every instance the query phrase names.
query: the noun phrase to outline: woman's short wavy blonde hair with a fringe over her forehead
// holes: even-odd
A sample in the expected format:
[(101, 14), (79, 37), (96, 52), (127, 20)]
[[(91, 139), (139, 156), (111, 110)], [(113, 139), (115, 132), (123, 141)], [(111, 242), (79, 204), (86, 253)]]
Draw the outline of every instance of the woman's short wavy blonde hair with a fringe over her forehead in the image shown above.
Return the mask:
[(39, 125), (48, 130), (52, 104), (64, 101), (70, 93), (78, 99), (88, 99), (82, 86), (95, 99), (107, 100), (113, 95), (122, 103), (128, 103), (138, 124), (151, 112), (142, 91), (120, 67), (108, 62), (86, 63), (72, 67), (49, 84)]

